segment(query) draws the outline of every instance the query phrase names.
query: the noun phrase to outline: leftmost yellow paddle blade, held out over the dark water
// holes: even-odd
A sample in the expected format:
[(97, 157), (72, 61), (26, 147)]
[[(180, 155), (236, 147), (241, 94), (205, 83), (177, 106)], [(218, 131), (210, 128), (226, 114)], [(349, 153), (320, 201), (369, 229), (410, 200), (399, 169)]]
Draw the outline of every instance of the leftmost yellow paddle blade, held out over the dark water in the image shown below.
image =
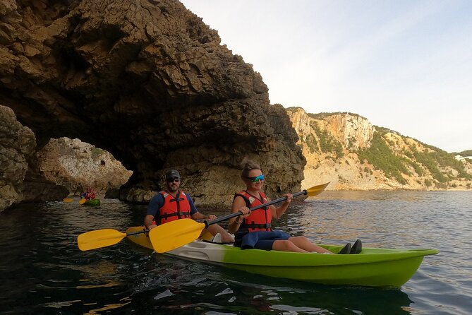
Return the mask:
[(77, 244), (81, 251), (88, 251), (114, 245), (124, 237), (126, 237), (126, 233), (113, 229), (95, 230), (80, 234), (77, 237)]

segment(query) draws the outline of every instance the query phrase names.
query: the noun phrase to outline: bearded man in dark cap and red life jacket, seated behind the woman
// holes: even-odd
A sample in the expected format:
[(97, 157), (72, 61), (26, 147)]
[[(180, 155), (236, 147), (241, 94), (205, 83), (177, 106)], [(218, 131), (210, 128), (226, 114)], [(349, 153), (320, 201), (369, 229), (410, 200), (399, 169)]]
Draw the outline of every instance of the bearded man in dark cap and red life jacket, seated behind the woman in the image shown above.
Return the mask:
[[(191, 218), (193, 220), (215, 220), (216, 215), (205, 217), (195, 208), (192, 198), (189, 194), (178, 189), (181, 184), (181, 175), (177, 170), (169, 170), (166, 173), (167, 189), (159, 191), (156, 196), (152, 197), (149, 206), (147, 206), (147, 215), (144, 218), (144, 225), (149, 230), (167, 222), (171, 222), (183, 218)], [(241, 209), (244, 214), (249, 213), (248, 208)], [(217, 233), (221, 234), (222, 242), (233, 242), (234, 239), (222, 227), (217, 224), (210, 225), (202, 231), (210, 232), (213, 236)]]

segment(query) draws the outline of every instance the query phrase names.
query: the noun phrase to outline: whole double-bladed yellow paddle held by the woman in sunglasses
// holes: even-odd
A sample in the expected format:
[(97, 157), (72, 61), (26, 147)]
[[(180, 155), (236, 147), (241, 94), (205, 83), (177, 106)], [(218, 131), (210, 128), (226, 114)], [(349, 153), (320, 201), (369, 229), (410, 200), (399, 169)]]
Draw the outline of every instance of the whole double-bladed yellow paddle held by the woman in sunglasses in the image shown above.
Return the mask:
[[(321, 192), (325, 190), (328, 184), (329, 182), (327, 182), (326, 184), (313, 186), (309, 189), (305, 189), (294, 194), (294, 197), (301, 195), (308, 195), (310, 197), (316, 196), (318, 194), (321, 194)], [(257, 210), (259, 208), (264, 208), (265, 206), (270, 206), (274, 203), (279, 203), (280, 201), (284, 200), (286, 200), (286, 197), (281, 197), (269, 201), (267, 203), (263, 203), (262, 205), (250, 208), (249, 210)], [(167, 222), (162, 225), (158, 225), (149, 232), (149, 238), (152, 244), (152, 248), (154, 248), (154, 250), (158, 253), (165, 253), (167, 251), (171, 251), (172, 249), (176, 249), (180, 246), (195, 241), (195, 239), (198, 239), (198, 237), (200, 237), (200, 234), (202, 233), (202, 230), (206, 229), (208, 226), (217, 222), (222, 222), (224, 220), (237, 217), (238, 215), (242, 214), (243, 213), (238, 211), (229, 215), (224, 215), (220, 218), (217, 218), (217, 220), (212, 220), (210, 222), (207, 222), (205, 220), (204, 222), (199, 223), (192, 219), (180, 219)]]

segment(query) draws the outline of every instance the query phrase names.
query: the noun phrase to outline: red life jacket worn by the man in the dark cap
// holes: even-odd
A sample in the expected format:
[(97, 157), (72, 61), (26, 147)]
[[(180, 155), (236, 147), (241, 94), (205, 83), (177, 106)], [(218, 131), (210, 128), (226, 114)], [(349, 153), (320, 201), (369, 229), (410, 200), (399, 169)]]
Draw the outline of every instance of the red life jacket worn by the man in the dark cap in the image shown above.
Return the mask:
[(177, 191), (175, 198), (166, 191), (159, 191), (159, 194), (164, 196), (164, 206), (159, 208), (159, 224), (190, 218), (190, 203), (183, 191)]

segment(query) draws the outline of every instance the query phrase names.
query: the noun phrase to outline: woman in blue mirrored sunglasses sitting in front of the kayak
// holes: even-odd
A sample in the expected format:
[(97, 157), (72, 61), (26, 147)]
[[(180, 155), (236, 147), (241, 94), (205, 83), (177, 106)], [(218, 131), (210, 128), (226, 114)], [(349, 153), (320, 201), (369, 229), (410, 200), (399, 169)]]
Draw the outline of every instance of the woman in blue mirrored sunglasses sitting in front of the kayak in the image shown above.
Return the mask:
[[(243, 161), (241, 179), (246, 184), (246, 190), (240, 191), (234, 196), (231, 212), (236, 213), (241, 210), (241, 207), (251, 208), (270, 201), (262, 191), (264, 175), (256, 162), (251, 160)], [(254, 248), (265, 249), (267, 251), (274, 249), (277, 251), (295, 251), (300, 253), (334, 254), (327, 249), (313, 244), (306, 237), (291, 237), (285, 232), (272, 230), (272, 218), (280, 218), (294, 197), (292, 194), (285, 194), (284, 196), (286, 196), (286, 201), (277, 208), (270, 205), (253, 210), (249, 215), (231, 218), (228, 230), (230, 233), (236, 233), (234, 246), (239, 246), (241, 249)], [(356, 246), (356, 251), (360, 251), (361, 241), (356, 242), (354, 246)], [(354, 254), (351, 252), (351, 244), (346, 244), (338, 254)]]

